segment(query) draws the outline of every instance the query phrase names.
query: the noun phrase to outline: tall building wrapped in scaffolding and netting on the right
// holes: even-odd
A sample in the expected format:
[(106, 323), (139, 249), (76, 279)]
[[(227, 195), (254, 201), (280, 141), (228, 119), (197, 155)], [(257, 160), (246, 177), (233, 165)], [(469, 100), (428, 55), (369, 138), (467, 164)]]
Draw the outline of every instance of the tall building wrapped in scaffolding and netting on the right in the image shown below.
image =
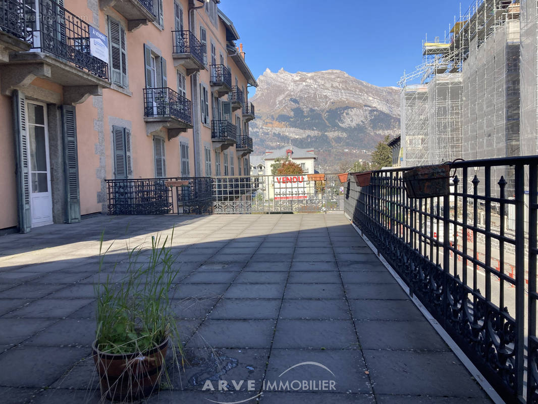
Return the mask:
[[(536, 154), (537, 2), (522, 7), (519, 0), (477, 0), (445, 39), (423, 43), (422, 64), (400, 81), (404, 165)], [(521, 80), (529, 81), (525, 102)], [(521, 115), (532, 128), (520, 130)]]

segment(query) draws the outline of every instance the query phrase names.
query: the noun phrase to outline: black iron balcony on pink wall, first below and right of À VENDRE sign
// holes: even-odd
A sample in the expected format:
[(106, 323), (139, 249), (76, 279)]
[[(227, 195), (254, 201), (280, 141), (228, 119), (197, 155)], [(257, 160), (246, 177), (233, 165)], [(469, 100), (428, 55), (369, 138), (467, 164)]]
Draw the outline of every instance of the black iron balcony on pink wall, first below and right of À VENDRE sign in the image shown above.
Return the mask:
[(144, 121), (160, 122), (169, 138), (178, 136), (193, 127), (191, 102), (168, 87), (144, 88)]

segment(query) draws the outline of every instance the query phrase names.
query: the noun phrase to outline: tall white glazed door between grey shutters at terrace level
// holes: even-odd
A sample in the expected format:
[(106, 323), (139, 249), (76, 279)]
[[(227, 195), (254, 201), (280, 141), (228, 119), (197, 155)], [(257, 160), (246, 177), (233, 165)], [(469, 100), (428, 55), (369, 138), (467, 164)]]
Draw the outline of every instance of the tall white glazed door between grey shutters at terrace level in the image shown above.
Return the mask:
[(44, 104), (26, 102), (32, 227), (52, 224), (51, 164)]

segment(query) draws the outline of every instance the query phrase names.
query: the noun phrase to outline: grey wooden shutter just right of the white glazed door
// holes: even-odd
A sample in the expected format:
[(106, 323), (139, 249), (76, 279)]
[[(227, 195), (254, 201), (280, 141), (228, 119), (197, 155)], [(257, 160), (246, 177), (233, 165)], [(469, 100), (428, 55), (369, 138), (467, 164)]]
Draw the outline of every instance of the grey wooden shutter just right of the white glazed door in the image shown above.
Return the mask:
[(65, 169), (66, 223), (80, 222), (79, 156), (76, 145), (75, 107), (62, 106), (63, 164)]

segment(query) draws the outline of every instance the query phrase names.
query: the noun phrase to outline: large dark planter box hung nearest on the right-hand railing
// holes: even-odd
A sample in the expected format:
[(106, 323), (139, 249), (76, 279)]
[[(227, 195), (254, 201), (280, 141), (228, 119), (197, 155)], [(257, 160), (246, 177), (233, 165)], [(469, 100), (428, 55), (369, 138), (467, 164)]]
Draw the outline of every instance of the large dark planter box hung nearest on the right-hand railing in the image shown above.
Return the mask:
[(450, 166), (430, 165), (406, 171), (402, 174), (409, 198), (442, 197), (449, 193)]

